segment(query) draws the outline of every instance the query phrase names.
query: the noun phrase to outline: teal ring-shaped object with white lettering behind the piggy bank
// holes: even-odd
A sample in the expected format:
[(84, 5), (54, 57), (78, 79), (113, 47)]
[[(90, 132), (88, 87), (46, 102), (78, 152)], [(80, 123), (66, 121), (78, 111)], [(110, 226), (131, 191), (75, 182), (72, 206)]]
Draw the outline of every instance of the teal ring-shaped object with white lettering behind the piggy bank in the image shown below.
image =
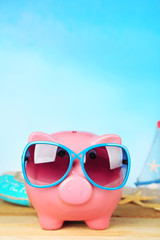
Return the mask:
[(16, 174), (3, 174), (0, 176), (0, 198), (14, 204), (29, 206), (29, 199), (22, 180)]

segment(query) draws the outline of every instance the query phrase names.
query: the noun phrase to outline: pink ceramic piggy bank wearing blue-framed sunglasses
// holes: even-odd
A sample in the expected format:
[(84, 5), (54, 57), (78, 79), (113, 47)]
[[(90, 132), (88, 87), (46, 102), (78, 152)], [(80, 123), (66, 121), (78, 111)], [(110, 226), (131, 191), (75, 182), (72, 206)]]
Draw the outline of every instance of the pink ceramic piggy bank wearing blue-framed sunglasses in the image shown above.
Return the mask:
[(128, 150), (118, 135), (35, 132), (22, 155), (25, 187), (43, 229), (85, 221), (106, 229), (127, 181)]

